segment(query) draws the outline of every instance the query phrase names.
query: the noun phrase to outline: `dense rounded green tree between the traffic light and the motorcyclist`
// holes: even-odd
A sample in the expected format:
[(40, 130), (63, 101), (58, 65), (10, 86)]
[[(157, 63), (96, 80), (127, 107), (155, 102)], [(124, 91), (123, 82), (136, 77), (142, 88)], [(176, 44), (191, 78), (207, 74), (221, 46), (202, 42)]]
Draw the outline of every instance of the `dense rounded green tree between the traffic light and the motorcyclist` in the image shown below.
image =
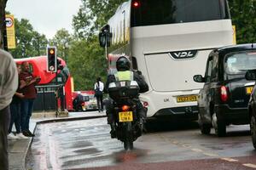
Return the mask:
[(103, 49), (98, 48), (96, 36), (92, 41), (74, 41), (71, 44), (68, 68), (72, 73), (75, 89), (93, 89), (96, 77), (102, 77), (103, 81), (107, 78), (107, 62), (103, 57)]

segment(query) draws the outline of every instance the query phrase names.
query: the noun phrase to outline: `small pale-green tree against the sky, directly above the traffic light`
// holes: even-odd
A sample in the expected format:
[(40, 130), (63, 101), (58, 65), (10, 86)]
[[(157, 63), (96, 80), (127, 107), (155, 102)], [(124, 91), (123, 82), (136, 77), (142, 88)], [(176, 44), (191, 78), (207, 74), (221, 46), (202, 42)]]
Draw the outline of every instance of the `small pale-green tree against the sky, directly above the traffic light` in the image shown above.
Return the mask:
[(68, 50), (73, 37), (64, 28), (57, 31), (55, 37), (49, 40), (49, 44), (56, 46), (57, 55), (67, 61)]

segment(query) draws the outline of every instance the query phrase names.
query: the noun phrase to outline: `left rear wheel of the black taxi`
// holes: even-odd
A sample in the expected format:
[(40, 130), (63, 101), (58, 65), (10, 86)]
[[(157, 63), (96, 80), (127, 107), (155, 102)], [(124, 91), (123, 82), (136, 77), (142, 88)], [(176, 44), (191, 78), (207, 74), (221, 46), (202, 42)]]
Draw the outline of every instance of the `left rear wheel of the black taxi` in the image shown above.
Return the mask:
[(216, 113), (213, 113), (212, 115), (212, 127), (214, 127), (215, 133), (218, 137), (226, 135), (226, 126), (223, 121), (218, 120)]

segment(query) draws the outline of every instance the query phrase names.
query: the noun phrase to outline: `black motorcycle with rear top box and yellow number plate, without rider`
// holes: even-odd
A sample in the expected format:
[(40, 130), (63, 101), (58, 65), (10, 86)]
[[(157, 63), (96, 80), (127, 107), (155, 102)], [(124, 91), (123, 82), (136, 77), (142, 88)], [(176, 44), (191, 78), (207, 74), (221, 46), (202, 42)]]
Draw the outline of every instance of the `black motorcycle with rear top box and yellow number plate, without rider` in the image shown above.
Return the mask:
[(137, 115), (137, 97), (139, 95), (137, 82), (111, 82), (108, 94), (113, 99), (116, 138), (124, 143), (125, 150), (132, 150), (133, 142), (142, 135)]

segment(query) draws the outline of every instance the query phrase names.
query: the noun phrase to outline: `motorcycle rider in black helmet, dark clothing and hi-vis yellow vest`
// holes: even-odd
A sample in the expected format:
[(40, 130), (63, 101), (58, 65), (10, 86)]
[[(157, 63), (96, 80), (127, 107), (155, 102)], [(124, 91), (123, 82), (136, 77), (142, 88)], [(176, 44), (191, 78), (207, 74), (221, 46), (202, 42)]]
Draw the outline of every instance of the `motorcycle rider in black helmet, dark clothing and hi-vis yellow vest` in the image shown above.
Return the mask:
[[(108, 85), (111, 82), (116, 81), (136, 81), (140, 90), (139, 93), (145, 93), (148, 91), (148, 84), (144, 81), (143, 76), (139, 74), (136, 71), (130, 71), (131, 62), (128, 58), (125, 56), (119, 57), (119, 59), (116, 61), (116, 69), (117, 73), (114, 75), (109, 75), (107, 82), (106, 82), (106, 90), (108, 93)], [(134, 99), (137, 103), (137, 113), (139, 116), (139, 127), (141, 128), (141, 131), (143, 130), (143, 123), (145, 122), (147, 109), (145, 109), (140, 102), (140, 100)], [(108, 116), (108, 124), (111, 127), (111, 138), (116, 137), (116, 130), (115, 130), (115, 120), (113, 117), (113, 100), (108, 99), (108, 103), (106, 104), (106, 113)]]

